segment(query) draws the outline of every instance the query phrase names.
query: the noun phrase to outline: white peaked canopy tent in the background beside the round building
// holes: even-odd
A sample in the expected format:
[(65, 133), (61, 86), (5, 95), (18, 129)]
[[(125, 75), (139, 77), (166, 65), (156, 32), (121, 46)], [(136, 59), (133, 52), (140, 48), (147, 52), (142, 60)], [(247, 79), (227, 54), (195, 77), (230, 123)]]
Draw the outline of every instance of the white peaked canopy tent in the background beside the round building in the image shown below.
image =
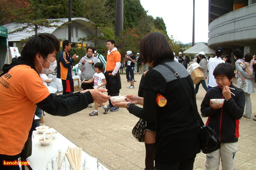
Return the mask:
[(204, 43), (202, 43), (202, 42), (197, 43), (193, 47), (190, 47), (183, 53), (184, 54), (198, 54), (200, 51), (203, 51), (205, 54), (215, 54), (214, 50), (212, 50), (210, 47), (204, 45)]

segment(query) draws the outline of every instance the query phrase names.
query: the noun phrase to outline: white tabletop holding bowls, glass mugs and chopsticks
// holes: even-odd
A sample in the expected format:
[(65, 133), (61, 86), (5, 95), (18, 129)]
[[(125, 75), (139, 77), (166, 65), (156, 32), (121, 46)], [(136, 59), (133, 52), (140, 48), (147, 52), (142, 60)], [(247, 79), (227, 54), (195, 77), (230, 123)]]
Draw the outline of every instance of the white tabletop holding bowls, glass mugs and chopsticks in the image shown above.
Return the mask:
[[(54, 130), (53, 128), (49, 128), (49, 130)], [(33, 138), (34, 136), (34, 138)], [(42, 146), (38, 142), (38, 138), (42, 137), (43, 134), (39, 134), (37, 131), (33, 131), (32, 136), (32, 155), (27, 158), (27, 161), (30, 162), (30, 167), (33, 170), (45, 170), (46, 163), (51, 161), (52, 157), (58, 156), (60, 149), (67, 149), (68, 147), (77, 147), (70, 140), (65, 138), (59, 132), (57, 132), (52, 142), (47, 146)], [(91, 157), (86, 152), (82, 151), (82, 163), (84, 163), (84, 159), (86, 157)], [(100, 164), (100, 163), (99, 163)], [(101, 164), (100, 164), (101, 165)], [(103, 166), (104, 170), (108, 170), (105, 166)]]

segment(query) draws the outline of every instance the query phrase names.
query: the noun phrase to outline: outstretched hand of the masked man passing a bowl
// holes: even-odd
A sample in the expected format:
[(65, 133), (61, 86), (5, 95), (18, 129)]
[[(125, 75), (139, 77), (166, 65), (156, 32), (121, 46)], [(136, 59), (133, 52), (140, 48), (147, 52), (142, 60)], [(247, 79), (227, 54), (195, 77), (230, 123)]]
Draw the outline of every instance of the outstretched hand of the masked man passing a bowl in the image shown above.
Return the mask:
[(83, 90), (81, 93), (90, 91), (91, 96), (93, 96), (93, 101), (97, 103), (105, 103), (109, 100), (110, 96), (107, 96), (106, 94), (103, 94), (101, 92), (107, 92), (106, 89), (89, 89), (89, 90)]

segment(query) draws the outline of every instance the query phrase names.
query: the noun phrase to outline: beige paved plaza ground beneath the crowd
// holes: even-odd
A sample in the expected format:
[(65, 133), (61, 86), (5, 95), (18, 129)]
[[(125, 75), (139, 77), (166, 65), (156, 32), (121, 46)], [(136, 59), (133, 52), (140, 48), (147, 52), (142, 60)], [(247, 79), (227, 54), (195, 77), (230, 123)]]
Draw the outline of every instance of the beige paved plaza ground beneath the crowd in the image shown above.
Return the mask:
[[(141, 76), (141, 74), (135, 73), (135, 80), (137, 81), (135, 82), (135, 89), (128, 89), (127, 86), (130, 83), (126, 81), (125, 74), (122, 74), (120, 94), (137, 94)], [(256, 83), (254, 80), (252, 81), (256, 91)], [(234, 85), (236, 86), (236, 80), (234, 80)], [(196, 96), (199, 111), (205, 93), (203, 87), (200, 86)], [(251, 94), (251, 100), (251, 119), (245, 117), (240, 119), (240, 138), (236, 154), (237, 170), (256, 169), (256, 121), (252, 120), (253, 115), (256, 114), (256, 93)], [(98, 109), (98, 116), (89, 116), (88, 114), (94, 110), (94, 104), (92, 105), (93, 108), (86, 108), (66, 117), (52, 116), (46, 113), (44, 123), (41, 125), (45, 124), (56, 129), (78, 147), (82, 147), (89, 155), (98, 158), (99, 162), (110, 170), (144, 169), (144, 143), (137, 142), (131, 133), (139, 118), (130, 114), (125, 108), (120, 108), (116, 112), (109, 111), (103, 115), (102, 107)], [(204, 123), (206, 120), (207, 118), (203, 117)], [(197, 154), (194, 169), (205, 169), (205, 160), (205, 154)]]

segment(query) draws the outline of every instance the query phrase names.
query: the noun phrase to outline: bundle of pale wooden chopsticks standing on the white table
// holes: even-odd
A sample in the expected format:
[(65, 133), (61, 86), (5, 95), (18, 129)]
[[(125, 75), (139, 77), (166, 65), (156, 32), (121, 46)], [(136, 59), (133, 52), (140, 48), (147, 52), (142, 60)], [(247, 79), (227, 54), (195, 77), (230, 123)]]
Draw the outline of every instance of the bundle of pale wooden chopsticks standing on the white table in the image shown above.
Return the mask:
[(69, 148), (65, 153), (68, 158), (68, 162), (72, 167), (72, 170), (80, 170), (81, 158), (82, 158), (82, 148)]

